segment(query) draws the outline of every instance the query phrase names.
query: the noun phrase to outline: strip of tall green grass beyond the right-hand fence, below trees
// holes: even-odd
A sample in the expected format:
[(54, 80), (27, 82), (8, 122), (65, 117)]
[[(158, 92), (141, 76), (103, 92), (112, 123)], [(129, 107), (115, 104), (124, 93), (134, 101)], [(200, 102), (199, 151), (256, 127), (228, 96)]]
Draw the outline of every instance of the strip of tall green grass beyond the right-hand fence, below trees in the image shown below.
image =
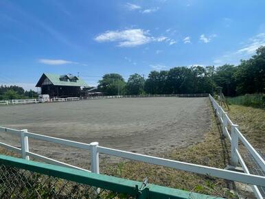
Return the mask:
[(229, 104), (265, 108), (265, 95), (241, 95), (238, 97), (227, 97), (227, 101)]

